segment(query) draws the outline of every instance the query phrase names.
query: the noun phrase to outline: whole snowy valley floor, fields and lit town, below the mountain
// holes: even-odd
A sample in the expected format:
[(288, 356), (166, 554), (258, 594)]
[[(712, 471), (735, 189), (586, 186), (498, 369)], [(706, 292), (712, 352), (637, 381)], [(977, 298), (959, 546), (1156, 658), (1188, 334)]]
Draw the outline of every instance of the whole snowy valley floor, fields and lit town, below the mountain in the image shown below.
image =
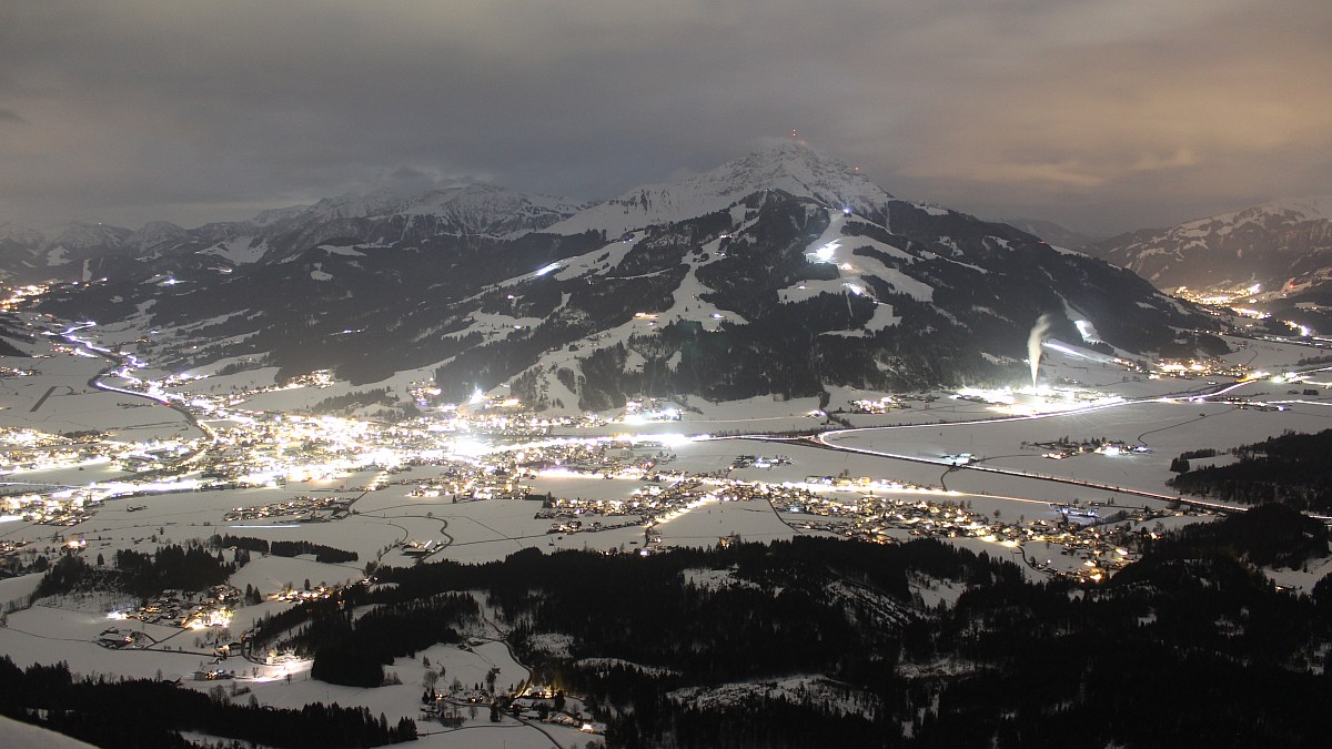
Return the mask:
[[(1305, 349), (1295, 345), (1245, 344), (1247, 348), (1233, 356), (1251, 368), (1268, 372), (1293, 369), (1295, 361), (1307, 356)], [(87, 349), (57, 339), (45, 345), (48, 349), (41, 359), (3, 363), (31, 371), (25, 376), (0, 378), (0, 405), (4, 406), (0, 428), (9, 440), (8, 448), (17, 454), (24, 444), (31, 444), (24, 430), (81, 432), (95, 434), (88, 438), (99, 441), (103, 454), (59, 457), (52, 453), (49, 461), (15, 468), (3, 477), (7, 510), (0, 517), (0, 544), (8, 544), (5, 556), (16, 566), (29, 568), (39, 554), (53, 560), (71, 542), (77, 542), (79, 553), (92, 564), (99, 557), (113, 558), (117, 550), (153, 552), (166, 544), (206, 542), (214, 534), (233, 534), (268, 541), (304, 540), (353, 552), (357, 557), (348, 564), (322, 564), (310, 554), (290, 558), (254, 554), (229, 582), (240, 589), (253, 586), (265, 597), (306, 585), (356, 582), (365, 577), (368, 562), (410, 564), (408, 544), (412, 541), (433, 541), (440, 550), (432, 552), (432, 560), (490, 561), (527, 548), (647, 553), (670, 546), (710, 548), (737, 536), (769, 541), (835, 534), (890, 541), (930, 534), (1002, 558), (1015, 558), (1032, 580), (1079, 574), (1088, 566), (1106, 566), (1116, 560), (1111, 558), (1112, 546), (1090, 549), (1084, 541), (1058, 538), (1052, 544), (1052, 529), (1067, 525), (1071, 518), (1075, 530), (1070, 532), (1070, 538), (1076, 536), (1078, 525), (1095, 528), (1116, 513), (1128, 530), (1163, 530), (1211, 517), (1207, 508), (1180, 506), (1175, 501), (1177, 496), (1166, 485), (1172, 476), (1171, 461), (1180, 453), (1215, 449), (1220, 453), (1217, 457), (1197, 461), (1199, 465), (1215, 464), (1228, 460), (1224, 450), (1239, 444), (1288, 430), (1316, 432), (1332, 426), (1332, 398), (1303, 394), (1304, 389), (1315, 388), (1327, 392), (1328, 384), (1319, 381), (1328, 378), (1324, 373), (1312, 373), (1300, 385), (1252, 380), (1224, 393), (1229, 398), (1281, 406), (1281, 410), (1260, 410), (1227, 402), (1220, 396), (1201, 400), (1180, 396), (1220, 389), (1205, 380), (1134, 378), (1110, 365), (1052, 353), (1044, 368), (1052, 381), (1076, 378), (1080, 386), (1118, 400), (1094, 409), (1011, 417), (990, 404), (935, 393), (936, 400), (912, 401), (912, 408), (896, 408), (886, 414), (850, 413), (848, 409), (836, 414), (850, 428), (807, 416), (818, 408), (814, 398), (738, 404), (691, 401), (690, 406), (697, 410), (685, 410), (679, 421), (617, 421), (562, 429), (539, 438), (509, 437), (489, 442), (476, 436), (448, 434), (432, 448), (437, 457), (429, 461), (404, 460), (406, 449), (378, 465), (361, 460), (333, 466), (341, 458), (324, 456), (318, 464), (325, 468), (312, 468), (305, 478), (294, 477), (297, 474), (288, 465), (284, 470), (290, 476), (262, 485), (198, 490), (196, 482), (156, 486), (152, 492), (121, 488), (125, 493), (117, 497), (107, 488), (133, 486), (144, 480), (127, 469), (125, 450), (112, 458), (109, 453), (115, 448), (107, 445), (132, 444), (135, 446), (127, 450), (139, 453), (166, 444), (178, 445), (174, 454), (186, 456), (186, 462), (180, 464), (176, 476), (163, 481), (194, 481), (200, 472), (188, 462), (193, 458), (186, 450), (194, 448), (186, 445), (200, 440), (200, 428), (181, 408), (153, 405), (133, 393), (100, 389), (96, 381), (105, 372), (107, 361)], [(206, 393), (208, 384), (208, 380), (176, 384), (172, 392), (192, 388)], [(340, 389), (346, 390), (340, 384), (326, 389), (270, 390), (233, 402), (228, 410), (198, 409), (197, 418), (204, 424), (202, 430), (212, 433), (252, 418), (260, 408), (297, 410)], [(1292, 389), (1300, 394), (1293, 394)], [(863, 397), (870, 394), (838, 390), (829, 408), (844, 408)], [(177, 402), (189, 401), (180, 398)], [(822, 442), (770, 436), (814, 429), (825, 430)], [(702, 434), (709, 437), (699, 438)], [(1043, 457), (1050, 448), (1038, 444), (1064, 437), (1122, 441), (1143, 449), (1123, 454), (1088, 452), (1063, 458)], [(428, 492), (432, 485), (456, 480), (460, 470), (474, 472), (486, 465), (493, 469), (522, 450), (565, 454), (558, 450), (585, 444), (595, 445), (589, 454), (613, 462), (559, 470), (546, 465), (518, 472), (521, 490), (510, 490), (505, 498), (477, 498), (480, 494), (465, 494), (457, 488), (436, 490), (433, 496)], [(265, 450), (265, 461), (276, 460), (272, 456), (280, 457), (284, 449), (297, 450), (294, 442), (266, 448), (273, 449)], [(69, 450), (79, 450), (77, 438)], [(959, 460), (963, 454), (967, 460)], [(745, 456), (750, 460), (738, 460)], [(757, 461), (755, 457), (773, 460)], [(775, 460), (778, 457), (783, 460)], [(590, 460), (583, 456), (573, 462)], [(654, 466), (641, 469), (645, 461)], [(639, 468), (630, 470), (634, 466)], [(662, 476), (654, 477), (653, 472)], [(93, 494), (99, 497), (96, 501), (83, 504), (80, 497)], [(81, 508), (83, 514), (73, 516), (75, 522), (68, 525), (40, 522), (29, 512), (27, 496), (37, 496), (40, 502), (79, 505), (75, 509)], [(234, 514), (237, 508), (274, 508), (300, 497), (325, 498), (345, 512), (333, 517), (272, 512), (237, 518)], [(567, 512), (561, 513), (561, 506)], [(607, 512), (611, 506), (615, 510)], [(866, 526), (855, 516), (858, 509), (868, 506), (876, 508), (884, 518), (898, 520)], [(959, 514), (955, 528), (927, 528), (912, 520), (912, 508), (954, 508), (948, 512), (964, 510), (966, 517)], [(573, 526), (574, 521), (578, 526)], [(20, 666), (65, 661), (79, 674), (180, 678), (202, 690), (214, 682), (194, 681), (194, 674), (217, 668), (213, 657), (217, 642), (238, 637), (265, 613), (289, 605), (265, 600), (237, 608), (225, 632), (193, 630), (108, 618), (111, 612), (135, 604), (125, 596), (69, 594), (29, 601), (39, 578), (39, 573), (27, 573), (0, 581), (0, 601), (7, 612), (0, 628), (0, 653)], [(1287, 573), (1280, 580), (1292, 586), (1311, 586), (1316, 578), (1316, 573)], [(922, 593), (944, 605), (956, 596), (948, 589)], [(99, 645), (100, 633), (112, 626), (143, 632), (151, 645), (141, 649)], [(437, 645), (418, 656), (444, 665), (449, 678), (456, 677), (465, 685), (480, 681), (492, 668), (500, 669), (500, 686), (529, 678), (526, 668), (500, 641), (498, 632), (481, 634), (481, 644), (470, 649)], [(424, 669), (420, 657), (400, 658), (388, 669), (401, 678), (401, 685), (377, 689), (309, 680), (309, 662), (302, 661), (264, 664), (230, 658), (220, 665), (236, 670), (236, 680), (228, 686), (246, 688), (261, 705), (337, 701), (365, 705), (374, 714), (382, 712), (390, 722), (398, 717), (421, 717)], [(589, 738), (573, 728), (529, 725), (509, 716), (494, 724), (485, 709), (476, 716), (466, 709), (462, 713), (460, 729), (442, 730), (422, 722), (421, 740), (430, 746), (571, 746)]]

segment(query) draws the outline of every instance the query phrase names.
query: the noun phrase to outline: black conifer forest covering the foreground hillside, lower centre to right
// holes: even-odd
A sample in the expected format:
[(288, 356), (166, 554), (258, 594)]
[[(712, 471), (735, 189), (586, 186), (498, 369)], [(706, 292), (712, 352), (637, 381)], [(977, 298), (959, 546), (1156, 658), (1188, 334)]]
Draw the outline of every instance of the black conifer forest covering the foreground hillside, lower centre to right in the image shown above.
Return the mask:
[[(372, 685), (456, 641), (476, 608), (449, 592), (477, 590), (517, 622), (534, 681), (586, 696), (615, 746), (1297, 746), (1332, 729), (1332, 606), (1325, 585), (1296, 596), (1256, 572), (1263, 529), (1304, 520), (1283, 509), (1167, 537), (1098, 588), (935, 541), (530, 550), (385, 569), (396, 585), (346, 600), (373, 616), (314, 604), (268, 636), (321, 678)], [(1325, 556), (1325, 532), (1303, 553)], [(915, 586), (944, 581), (967, 590), (923, 606)], [(573, 645), (550, 653), (543, 633)]]

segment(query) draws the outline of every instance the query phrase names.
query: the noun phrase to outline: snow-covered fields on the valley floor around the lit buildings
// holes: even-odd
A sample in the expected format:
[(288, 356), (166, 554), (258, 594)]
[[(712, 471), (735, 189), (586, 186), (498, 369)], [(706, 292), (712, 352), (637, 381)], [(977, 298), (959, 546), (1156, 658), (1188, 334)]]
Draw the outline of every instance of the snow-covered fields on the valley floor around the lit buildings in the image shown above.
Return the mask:
[[(104, 344), (115, 344), (116, 331), (99, 329)], [(131, 332), (123, 333), (127, 340)], [(1233, 341), (1232, 341), (1233, 343)], [(103, 359), (73, 353), (68, 347), (57, 351), (55, 341), (41, 339), (37, 349), (41, 359), (7, 360), (15, 368), (35, 371), (31, 376), (0, 378), (0, 426), (19, 426), (44, 432), (77, 432), (85, 429), (109, 430), (125, 441), (148, 441), (177, 434), (192, 437), (192, 426), (177, 410), (153, 405), (151, 400), (116, 392), (100, 390), (89, 381), (103, 372)], [(1295, 363), (1311, 355), (1299, 345), (1264, 341), (1244, 341), (1245, 348), (1231, 355), (1231, 360), (1248, 367), (1261, 367), (1271, 373), (1289, 371)], [(212, 374), (218, 367), (201, 368), (197, 374)], [(147, 371), (145, 371), (147, 372)], [(176, 389), (196, 389), (202, 393), (229, 392), (252, 386), (272, 385), (274, 372), (258, 369), (230, 376), (218, 376)], [(330, 396), (377, 386), (394, 386), (405, 392), (413, 380), (429, 376), (426, 369), (400, 373), (385, 382), (352, 388), (341, 382), (330, 388), (300, 388), (262, 393), (244, 405), (249, 409), (285, 410), (305, 408)], [(1332, 426), (1332, 398), (1307, 396), (1307, 388), (1325, 393), (1332, 382), (1328, 374), (1311, 377), (1303, 384), (1287, 385), (1271, 380), (1257, 380), (1236, 388), (1228, 396), (1255, 401), (1281, 404), (1287, 410), (1260, 412), (1240, 409), (1235, 404), (1191, 401), (1187, 397), (1166, 398), (1180, 393), (1213, 389), (1205, 378), (1151, 380), (1126, 374), (1124, 369), (1096, 361), (1079, 360), (1058, 352), (1047, 352), (1042, 364), (1042, 378), (1048, 381), (1076, 380), (1080, 386), (1096, 388), (1104, 394), (1123, 398), (1123, 402), (1098, 410), (1079, 410), (1030, 418), (1004, 418), (983, 402), (950, 398), (948, 393), (931, 393), (936, 400), (914, 400), (908, 409), (894, 409), (882, 416), (848, 413), (856, 400), (874, 400), (882, 393), (868, 393), (848, 388), (834, 389), (827, 410), (839, 412), (854, 426), (882, 426), (831, 433), (827, 440), (836, 448), (829, 449), (810, 441), (779, 441), (745, 438), (787, 430), (835, 429), (838, 424), (825, 417), (811, 417), (818, 409), (818, 398), (779, 400), (751, 398), (737, 402), (707, 402), (689, 398), (679, 421), (629, 425), (610, 424), (601, 429), (574, 430), (582, 434), (669, 434), (669, 450), (675, 460), (662, 465), (669, 472), (707, 473), (739, 481), (766, 484), (806, 485), (810, 477), (848, 477), (862, 484), (875, 482), (879, 497), (907, 501), (950, 501), (968, 504), (983, 516), (1003, 517), (1006, 521), (1060, 520), (1051, 504), (1108, 502), (1116, 506), (1151, 506), (1162, 509), (1166, 502), (1142, 496), (1115, 492), (1114, 488), (1169, 494), (1166, 480), (1171, 477), (1169, 462), (1179, 453), (1199, 448), (1227, 450), (1240, 444), (1260, 441), (1287, 430), (1316, 432)], [(1022, 385), (1022, 382), (1015, 382)], [(1292, 394), (1291, 390), (1299, 390)], [(924, 396), (920, 393), (919, 396)], [(144, 405), (149, 404), (149, 405)], [(710, 434), (713, 438), (687, 440), (686, 436)], [(739, 434), (733, 437), (731, 434)], [(1042, 457), (1043, 449), (1031, 442), (1054, 441), (1060, 437), (1084, 440), (1104, 437), (1142, 444), (1151, 452), (1138, 454), (1082, 454), (1064, 460)], [(1024, 446), (1023, 442), (1028, 445)], [(662, 449), (661, 445), (638, 448), (643, 454)], [(883, 454), (868, 454), (883, 453)], [(1027, 476), (983, 473), (948, 464), (944, 456), (971, 453), (980, 466), (994, 466)], [(769, 468), (731, 468), (737, 456), (782, 456), (786, 461)], [(1228, 460), (1225, 456), (1195, 461), (1205, 465)], [(534, 517), (541, 510), (539, 501), (486, 500), (453, 502), (449, 498), (412, 497), (418, 482), (426, 482), (444, 469), (418, 466), (393, 476), (394, 482), (378, 490), (357, 490), (372, 482), (374, 472), (361, 472), (340, 480), (292, 481), (281, 488), (226, 489), (208, 492), (177, 492), (120, 498), (104, 502), (88, 521), (75, 526), (53, 528), (35, 525), (13, 516), (0, 518), (0, 541), (28, 541), (24, 550), (29, 558), (44, 553), (52, 558), (61, 553), (69, 538), (87, 541), (85, 558), (101, 554), (112, 558), (120, 549), (151, 553), (165, 544), (188, 544), (206, 540), (213, 534), (254, 536), (269, 541), (306, 540), (316, 544), (354, 552), (358, 560), (348, 564), (321, 564), (309, 556), (282, 558), (253, 554), (253, 560), (230, 580), (237, 588), (253, 585), (261, 593), (274, 593), (288, 586), (338, 585), (360, 580), (368, 562), (388, 565), (412, 564), (400, 545), (406, 541), (436, 541), (442, 550), (432, 560), (484, 562), (526, 549), (595, 549), (635, 550), (647, 544), (642, 525), (633, 517), (599, 518), (606, 524), (629, 522), (623, 528), (598, 532), (550, 533), (551, 520)], [(89, 462), (44, 472), (27, 472), (4, 477), (7, 482), (53, 484), (83, 486), (95, 481), (123, 478), (127, 474), (109, 462)], [(1067, 482), (1040, 480), (1040, 476), (1071, 481), (1086, 481), (1110, 486), (1090, 488)], [(882, 485), (896, 482), (908, 488), (884, 490)], [(626, 500), (635, 490), (650, 486), (642, 480), (603, 480), (586, 476), (541, 476), (523, 481), (533, 494), (551, 494), (561, 498)], [(918, 486), (919, 489), (911, 489)], [(870, 489), (860, 486), (819, 486), (821, 494), (835, 501), (854, 502)], [(234, 508), (272, 505), (297, 496), (337, 497), (352, 502), (352, 514), (329, 522), (296, 522), (289, 517), (228, 521), (225, 514)], [(131, 509), (133, 508), (133, 509)], [(698, 506), (673, 514), (655, 526), (665, 546), (710, 546), (725, 536), (738, 534), (745, 540), (770, 541), (795, 534), (826, 530), (799, 528), (799, 521), (818, 520), (815, 516), (778, 513), (766, 501), (718, 502), (705, 501)], [(1152, 521), (1162, 528), (1197, 522), (1196, 516), (1166, 517)], [(1155, 525), (1154, 525), (1155, 526)], [(906, 530), (894, 529), (888, 534), (910, 540)], [(954, 538), (951, 542), (986, 552), (999, 558), (1022, 560), (1022, 556), (1047, 558), (1046, 548), (1028, 544), (1018, 549), (979, 538)], [(228, 552), (229, 553), (229, 552)], [(1048, 552), (1051, 565), (1071, 569), (1082, 564), (1076, 556)], [(1022, 565), (1032, 580), (1043, 580), (1043, 573)], [(1325, 569), (1269, 570), (1280, 585), (1308, 589)], [(212, 662), (212, 646), (193, 630), (112, 621), (108, 612), (125, 605), (124, 597), (83, 596), (41, 601), (32, 608), (21, 602), (35, 589), (40, 576), (0, 581), (0, 604), (12, 604), (7, 626), (0, 628), (0, 653), (20, 665), (32, 662), (68, 661), (81, 674), (124, 674), (135, 677), (185, 678), (185, 684), (206, 689), (210, 682), (189, 681), (193, 672)], [(947, 605), (956, 600), (959, 589), (932, 584), (916, 585), (916, 592), (927, 605)], [(244, 606), (236, 612), (232, 634), (249, 628), (265, 613), (277, 612), (288, 604), (266, 601)], [(108, 626), (132, 628), (144, 632), (156, 644), (149, 649), (112, 650), (95, 644)], [(420, 694), (426, 670), (422, 657), (429, 658), (436, 672), (444, 668), (442, 682), (458, 678), (470, 686), (485, 678), (492, 668), (500, 669), (497, 685), (505, 688), (527, 678), (527, 670), (517, 664), (496, 633), (477, 633), (486, 642), (470, 650), (437, 645), (414, 658), (400, 658), (386, 670), (396, 673), (401, 685), (377, 689), (350, 689), (332, 686), (308, 678), (308, 662), (261, 666), (236, 658), (228, 668), (236, 668), (240, 684), (252, 689), (265, 705), (300, 706), (312, 701), (337, 701), (344, 705), (366, 705), (372, 713), (384, 712), (389, 721), (398, 717), (420, 718)], [(242, 697), (248, 698), (248, 697)], [(503, 717), (492, 724), (489, 710), (480, 709), (472, 716), (462, 708), (462, 728), (445, 730), (438, 724), (421, 722), (422, 745), (441, 748), (462, 746), (549, 746), (553, 741), (565, 746), (586, 742), (589, 736), (574, 729), (541, 724), (539, 729)]]

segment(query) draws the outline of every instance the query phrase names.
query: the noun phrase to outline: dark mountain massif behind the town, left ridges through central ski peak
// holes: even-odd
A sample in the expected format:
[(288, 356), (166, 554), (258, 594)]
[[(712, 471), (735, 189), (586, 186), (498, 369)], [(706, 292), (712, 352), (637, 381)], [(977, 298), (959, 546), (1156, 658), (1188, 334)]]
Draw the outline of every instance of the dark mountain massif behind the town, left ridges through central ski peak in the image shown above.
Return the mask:
[(24, 272), (92, 281), (43, 311), (141, 329), (145, 359), (354, 382), (425, 368), (448, 397), (507, 385), (563, 409), (1016, 381), (1042, 315), (1131, 352), (1209, 325), (1127, 271), (894, 199), (795, 143), (591, 207), (465, 187), (81, 233), (7, 247), (28, 248)]

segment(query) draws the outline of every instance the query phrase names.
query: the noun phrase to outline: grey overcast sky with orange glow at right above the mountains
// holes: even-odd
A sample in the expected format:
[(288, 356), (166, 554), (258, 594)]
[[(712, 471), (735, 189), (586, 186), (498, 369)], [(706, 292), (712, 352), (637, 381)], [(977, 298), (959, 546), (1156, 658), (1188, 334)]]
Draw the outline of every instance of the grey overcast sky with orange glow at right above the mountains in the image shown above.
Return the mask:
[(12, 0), (0, 220), (603, 199), (799, 128), (894, 195), (1110, 233), (1332, 193), (1328, 71), (1328, 0)]

